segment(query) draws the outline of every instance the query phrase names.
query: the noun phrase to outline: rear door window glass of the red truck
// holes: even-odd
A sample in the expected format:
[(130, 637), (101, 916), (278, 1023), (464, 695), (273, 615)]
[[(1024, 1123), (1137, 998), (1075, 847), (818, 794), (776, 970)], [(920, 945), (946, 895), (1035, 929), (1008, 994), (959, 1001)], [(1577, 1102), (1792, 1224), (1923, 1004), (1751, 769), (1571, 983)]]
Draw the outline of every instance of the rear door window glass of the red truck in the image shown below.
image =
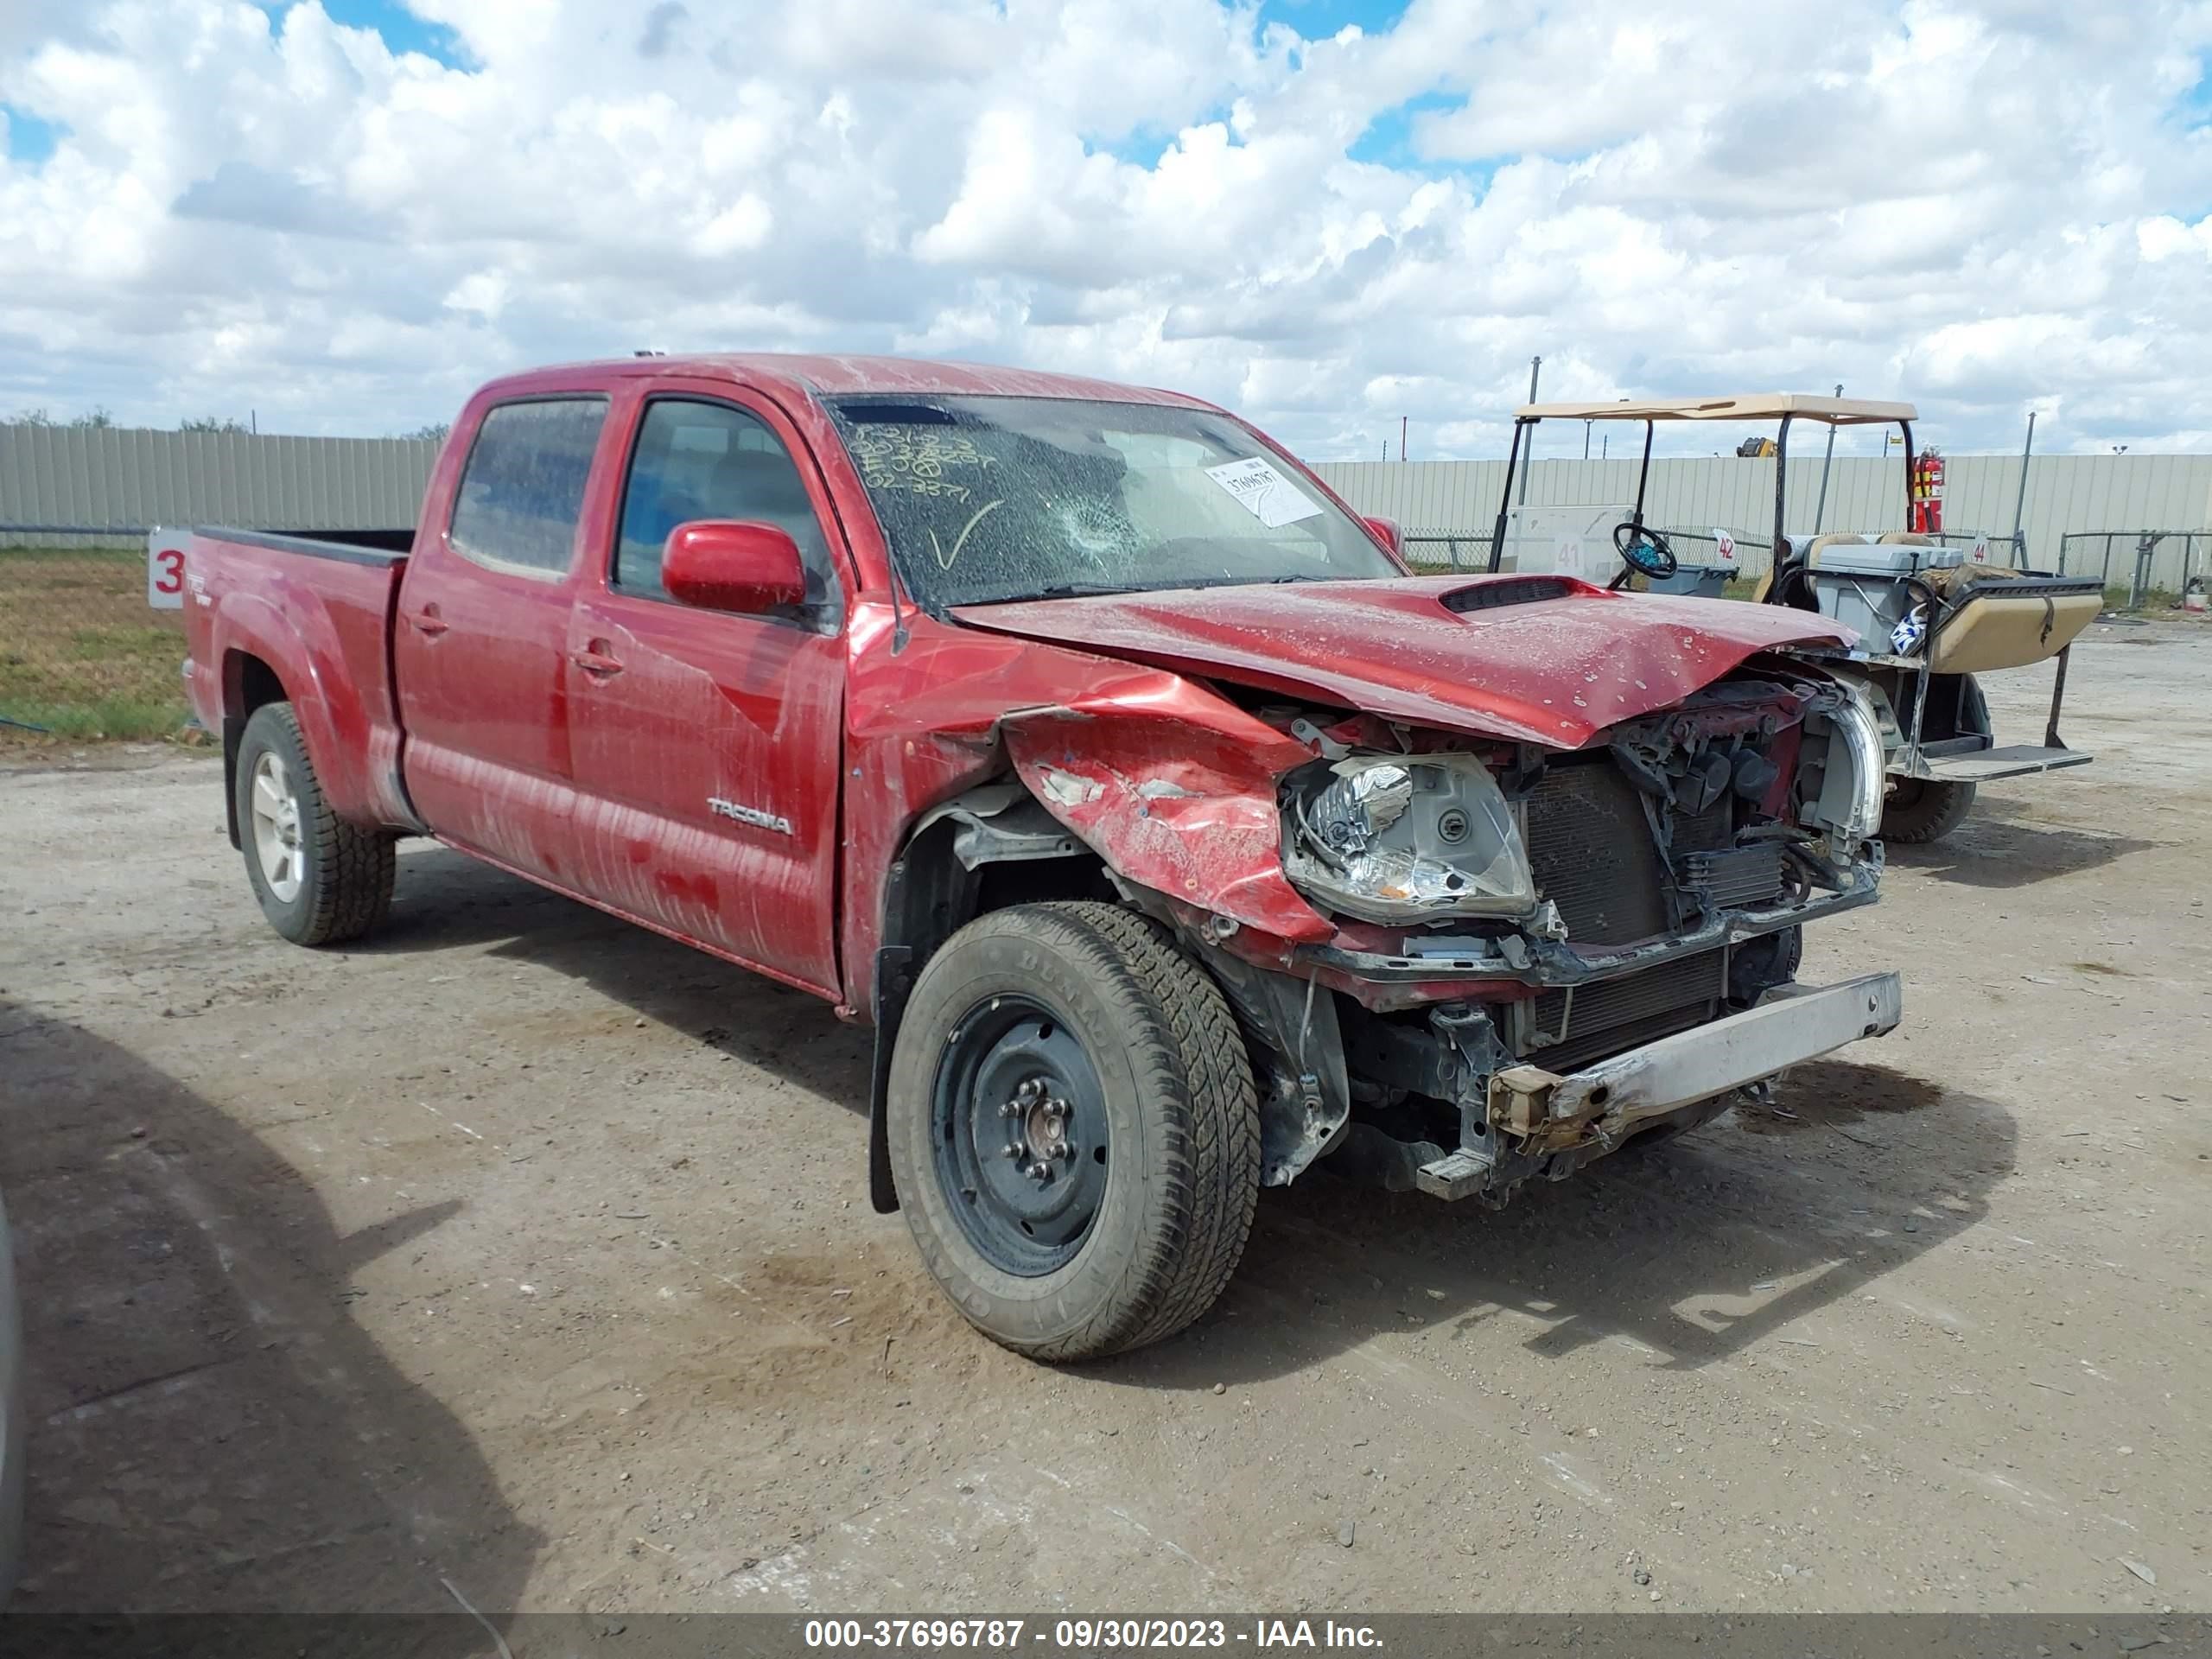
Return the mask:
[(478, 564), (566, 571), (604, 425), (606, 398), (502, 403), (484, 414), (447, 526), (453, 551)]

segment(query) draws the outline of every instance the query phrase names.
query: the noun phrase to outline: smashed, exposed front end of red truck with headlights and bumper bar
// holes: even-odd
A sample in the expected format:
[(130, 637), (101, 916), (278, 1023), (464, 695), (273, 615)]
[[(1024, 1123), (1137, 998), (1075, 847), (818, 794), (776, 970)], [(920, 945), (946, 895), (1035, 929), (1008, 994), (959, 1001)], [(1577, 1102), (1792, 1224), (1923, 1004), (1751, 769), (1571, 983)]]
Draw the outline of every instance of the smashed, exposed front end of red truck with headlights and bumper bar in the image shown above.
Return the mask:
[[(1882, 872), (1876, 710), (1809, 659), (1759, 657), (1579, 750), (1239, 703), (1274, 739), (1267, 920), (1099, 845), (1245, 1026), (1267, 1183), (1327, 1157), (1500, 1203), (1898, 1024), (1896, 975), (1794, 982), (1803, 925), (1871, 902)], [(1079, 832), (1124, 792), (1148, 821), (1172, 805), (1259, 830), (1248, 794), (1141, 801), (1133, 770), (1060, 761), (1099, 790), (1042, 759), (1024, 776)], [(1290, 898), (1318, 925), (1283, 927)]]

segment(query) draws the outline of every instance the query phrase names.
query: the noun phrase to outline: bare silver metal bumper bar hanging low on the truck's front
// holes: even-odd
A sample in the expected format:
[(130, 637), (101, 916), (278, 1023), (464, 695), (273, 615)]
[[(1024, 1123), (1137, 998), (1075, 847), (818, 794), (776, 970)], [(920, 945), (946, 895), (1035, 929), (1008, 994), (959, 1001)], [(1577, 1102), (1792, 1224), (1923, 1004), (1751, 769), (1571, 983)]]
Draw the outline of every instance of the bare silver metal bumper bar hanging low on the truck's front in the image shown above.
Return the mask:
[[(1776, 987), (1756, 1009), (1732, 1013), (1582, 1071), (1506, 1066), (1491, 1077), (1491, 1146), (1460, 1148), (1422, 1166), (1418, 1186), (1444, 1199), (1495, 1186), (1504, 1137), (1515, 1159), (1608, 1152), (1650, 1119), (1672, 1117), (1860, 1037), (1893, 1031), (1905, 1011), (1896, 973), (1827, 987)], [(1502, 1133), (1500, 1133), (1502, 1130)]]

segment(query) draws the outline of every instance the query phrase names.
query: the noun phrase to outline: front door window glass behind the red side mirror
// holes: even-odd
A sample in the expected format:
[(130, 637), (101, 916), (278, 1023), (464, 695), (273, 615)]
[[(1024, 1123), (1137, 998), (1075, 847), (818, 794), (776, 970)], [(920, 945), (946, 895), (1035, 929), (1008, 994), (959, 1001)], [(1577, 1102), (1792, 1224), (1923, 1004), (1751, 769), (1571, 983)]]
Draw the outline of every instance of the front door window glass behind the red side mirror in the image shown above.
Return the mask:
[(807, 604), (827, 591), (830, 544), (783, 442), (765, 422), (726, 403), (655, 398), (637, 422), (630, 482), (622, 493), (613, 586), (666, 597), (661, 549), (677, 524), (741, 518), (781, 526), (799, 542)]

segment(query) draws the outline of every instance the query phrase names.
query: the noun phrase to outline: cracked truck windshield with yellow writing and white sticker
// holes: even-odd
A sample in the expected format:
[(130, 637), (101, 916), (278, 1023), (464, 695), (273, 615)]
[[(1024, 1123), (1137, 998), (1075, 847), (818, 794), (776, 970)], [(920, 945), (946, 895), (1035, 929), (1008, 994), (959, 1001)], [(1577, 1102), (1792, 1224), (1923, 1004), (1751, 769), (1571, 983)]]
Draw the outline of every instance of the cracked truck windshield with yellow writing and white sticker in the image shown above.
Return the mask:
[(1228, 416), (1077, 398), (834, 398), (898, 575), (995, 599), (1402, 575)]

